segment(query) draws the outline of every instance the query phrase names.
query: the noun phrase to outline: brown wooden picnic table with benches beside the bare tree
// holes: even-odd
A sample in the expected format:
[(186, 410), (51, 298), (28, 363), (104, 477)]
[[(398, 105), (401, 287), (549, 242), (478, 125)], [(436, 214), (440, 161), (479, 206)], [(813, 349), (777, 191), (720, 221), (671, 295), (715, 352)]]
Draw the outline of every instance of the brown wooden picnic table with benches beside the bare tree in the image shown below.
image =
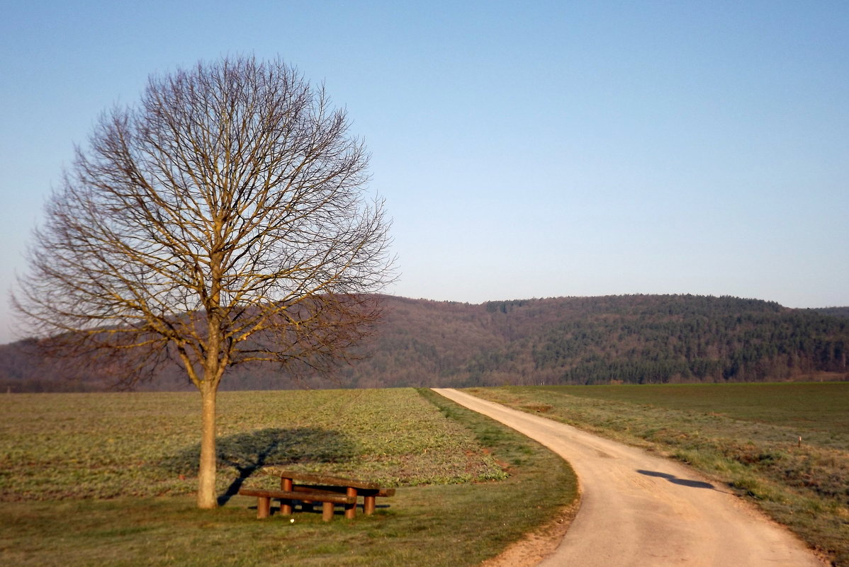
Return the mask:
[[(300, 500), (309, 506), (313, 502), (321, 502), (322, 519), (329, 521), (333, 518), (334, 504), (345, 505), (345, 517), (353, 519), (357, 514), (357, 497), (363, 497), (363, 512), (374, 514), (378, 497), (395, 495), (394, 488), (381, 488), (377, 482), (357, 481), (339, 476), (313, 475), (291, 470), (281, 470), (280, 490), (242, 489), (243, 496), (256, 496), (256, 517), (267, 518), (271, 512), (271, 499), (280, 499), (280, 513), (292, 514), (293, 501)], [(295, 482), (297, 481), (297, 482)]]

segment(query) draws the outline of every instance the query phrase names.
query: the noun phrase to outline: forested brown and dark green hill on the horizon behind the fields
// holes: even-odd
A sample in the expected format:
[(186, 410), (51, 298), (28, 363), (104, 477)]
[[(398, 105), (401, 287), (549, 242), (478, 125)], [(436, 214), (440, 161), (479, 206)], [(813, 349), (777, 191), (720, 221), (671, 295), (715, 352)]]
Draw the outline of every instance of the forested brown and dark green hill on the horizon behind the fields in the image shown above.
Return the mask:
[[(787, 309), (736, 297), (633, 295), (468, 303), (386, 297), (369, 356), (312, 387), (849, 379), (849, 309)], [(47, 388), (0, 347), (0, 386)], [(56, 367), (53, 366), (55, 369)], [(56, 374), (57, 370), (52, 370)], [(55, 375), (53, 377), (59, 377)], [(29, 384), (29, 386), (25, 386)], [(158, 385), (185, 386), (177, 373)], [(223, 389), (296, 387), (263, 367)], [(77, 386), (75, 386), (77, 387)]]

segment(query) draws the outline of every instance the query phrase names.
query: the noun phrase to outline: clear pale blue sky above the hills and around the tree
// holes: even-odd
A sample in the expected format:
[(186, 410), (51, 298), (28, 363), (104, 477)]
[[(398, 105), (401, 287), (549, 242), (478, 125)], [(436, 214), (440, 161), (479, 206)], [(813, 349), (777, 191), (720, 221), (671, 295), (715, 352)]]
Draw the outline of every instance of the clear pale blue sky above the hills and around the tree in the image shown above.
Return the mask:
[[(8, 0), (3, 291), (94, 120), (151, 73), (323, 81), (394, 219), (389, 292), (849, 305), (849, 3)], [(0, 342), (8, 331), (0, 301)]]

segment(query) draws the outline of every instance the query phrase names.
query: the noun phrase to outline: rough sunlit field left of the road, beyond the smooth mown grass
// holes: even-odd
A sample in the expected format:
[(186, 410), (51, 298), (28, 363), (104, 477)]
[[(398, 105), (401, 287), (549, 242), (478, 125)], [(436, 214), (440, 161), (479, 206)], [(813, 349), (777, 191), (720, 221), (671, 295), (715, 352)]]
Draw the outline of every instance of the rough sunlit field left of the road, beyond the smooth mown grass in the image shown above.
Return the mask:
[[(218, 490), (274, 465), (390, 486), (499, 478), (462, 427), (413, 390), (222, 392)], [(194, 492), (200, 398), (192, 393), (0, 397), (0, 500)]]

